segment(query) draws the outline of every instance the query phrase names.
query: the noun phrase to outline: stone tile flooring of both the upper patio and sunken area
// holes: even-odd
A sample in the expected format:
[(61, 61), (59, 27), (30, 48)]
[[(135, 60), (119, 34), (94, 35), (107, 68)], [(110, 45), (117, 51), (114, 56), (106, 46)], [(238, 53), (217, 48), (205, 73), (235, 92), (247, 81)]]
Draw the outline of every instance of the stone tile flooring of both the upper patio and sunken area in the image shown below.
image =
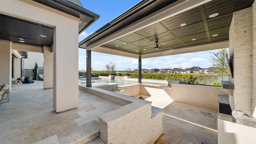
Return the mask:
[[(164, 100), (156, 100), (160, 106)], [(12, 86), (10, 102), (0, 104), (0, 144), (70, 144), (94, 131), (97, 115), (120, 105), (79, 90), (79, 107), (57, 114), (52, 89), (43, 81)], [(87, 125), (86, 125), (87, 124)], [(217, 111), (172, 102), (163, 111), (163, 134), (155, 144), (216, 144)], [(104, 144), (100, 138), (88, 144)]]

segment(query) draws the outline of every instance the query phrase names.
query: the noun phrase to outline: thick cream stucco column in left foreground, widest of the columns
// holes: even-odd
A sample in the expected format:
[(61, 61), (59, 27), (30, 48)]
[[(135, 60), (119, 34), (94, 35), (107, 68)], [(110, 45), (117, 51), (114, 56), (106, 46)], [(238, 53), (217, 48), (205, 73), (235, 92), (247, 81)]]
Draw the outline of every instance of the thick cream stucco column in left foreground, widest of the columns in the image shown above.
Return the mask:
[(78, 23), (54, 28), (53, 106), (56, 112), (78, 107)]

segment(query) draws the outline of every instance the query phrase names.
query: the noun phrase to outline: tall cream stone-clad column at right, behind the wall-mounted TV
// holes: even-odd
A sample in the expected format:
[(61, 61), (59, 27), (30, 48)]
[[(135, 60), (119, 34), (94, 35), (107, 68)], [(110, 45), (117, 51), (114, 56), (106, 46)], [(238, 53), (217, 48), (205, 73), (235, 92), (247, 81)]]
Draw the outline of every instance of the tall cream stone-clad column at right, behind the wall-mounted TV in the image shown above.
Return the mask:
[[(255, 3), (255, 2), (254, 2)], [(230, 58), (234, 71), (232, 110), (252, 113), (252, 8), (234, 12), (230, 24)], [(233, 80), (230, 80), (231, 82)]]

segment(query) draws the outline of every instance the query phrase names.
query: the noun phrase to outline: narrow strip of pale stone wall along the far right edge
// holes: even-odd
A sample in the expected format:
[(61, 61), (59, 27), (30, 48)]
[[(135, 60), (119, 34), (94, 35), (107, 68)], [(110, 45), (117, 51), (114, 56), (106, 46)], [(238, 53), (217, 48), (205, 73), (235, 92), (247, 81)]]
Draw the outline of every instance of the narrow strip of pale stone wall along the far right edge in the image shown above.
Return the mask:
[(256, 2), (252, 4), (252, 116), (256, 117)]

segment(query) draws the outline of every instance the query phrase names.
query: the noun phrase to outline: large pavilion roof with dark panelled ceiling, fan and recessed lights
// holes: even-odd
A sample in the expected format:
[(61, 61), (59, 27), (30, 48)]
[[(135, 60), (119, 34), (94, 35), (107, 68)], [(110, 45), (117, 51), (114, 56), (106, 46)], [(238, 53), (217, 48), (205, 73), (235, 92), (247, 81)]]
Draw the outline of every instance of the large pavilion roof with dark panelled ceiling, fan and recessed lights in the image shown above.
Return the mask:
[[(233, 12), (254, 0), (140, 1), (85, 38), (80, 48), (94, 52), (151, 58), (228, 48)], [(210, 14), (219, 15), (210, 18)], [(186, 26), (180, 24), (186, 23)], [(218, 36), (213, 36), (218, 34)], [(192, 40), (196, 38), (196, 40)], [(159, 49), (156, 50), (156, 41)]]

